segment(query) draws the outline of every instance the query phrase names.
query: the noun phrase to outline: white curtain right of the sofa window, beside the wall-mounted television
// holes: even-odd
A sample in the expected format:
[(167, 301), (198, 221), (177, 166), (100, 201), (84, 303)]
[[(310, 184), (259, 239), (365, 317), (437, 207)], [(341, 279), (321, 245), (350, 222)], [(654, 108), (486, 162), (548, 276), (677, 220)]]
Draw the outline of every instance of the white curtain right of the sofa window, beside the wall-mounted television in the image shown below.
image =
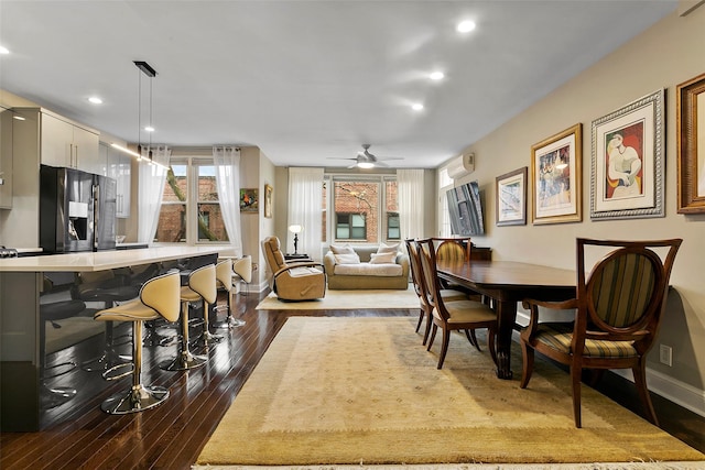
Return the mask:
[(425, 237), (423, 170), (397, 170), (401, 239)]

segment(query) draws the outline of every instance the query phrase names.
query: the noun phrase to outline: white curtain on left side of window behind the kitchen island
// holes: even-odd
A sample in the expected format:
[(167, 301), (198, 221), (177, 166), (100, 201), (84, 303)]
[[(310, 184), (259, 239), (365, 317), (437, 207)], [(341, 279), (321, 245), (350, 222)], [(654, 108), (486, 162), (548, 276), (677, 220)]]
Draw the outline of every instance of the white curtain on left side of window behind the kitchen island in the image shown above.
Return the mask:
[[(152, 152), (152, 162), (150, 160)], [(138, 218), (137, 239), (140, 243), (152, 243), (159, 223), (159, 212), (162, 207), (162, 196), (164, 195), (164, 184), (166, 183), (166, 171), (172, 151), (166, 145), (142, 146), (142, 162), (139, 162), (140, 181), (140, 207)]]

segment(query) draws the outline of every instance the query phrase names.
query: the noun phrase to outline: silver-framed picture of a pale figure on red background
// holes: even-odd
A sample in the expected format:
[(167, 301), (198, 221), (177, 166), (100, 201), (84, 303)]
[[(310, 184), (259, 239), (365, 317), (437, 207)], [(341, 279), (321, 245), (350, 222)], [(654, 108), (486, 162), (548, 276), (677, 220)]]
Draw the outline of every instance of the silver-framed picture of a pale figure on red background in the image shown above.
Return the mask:
[(590, 218), (665, 216), (664, 90), (593, 121)]

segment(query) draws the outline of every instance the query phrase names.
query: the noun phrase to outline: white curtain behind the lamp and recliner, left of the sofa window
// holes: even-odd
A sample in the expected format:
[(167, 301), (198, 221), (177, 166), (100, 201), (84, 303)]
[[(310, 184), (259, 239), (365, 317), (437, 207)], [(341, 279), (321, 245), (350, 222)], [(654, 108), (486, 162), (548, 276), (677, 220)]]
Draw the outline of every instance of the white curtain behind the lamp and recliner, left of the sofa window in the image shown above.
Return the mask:
[(299, 252), (322, 261), (323, 244), (323, 168), (289, 168), (289, 222), (286, 252), (294, 252), (294, 236), (289, 226), (303, 227), (299, 233)]

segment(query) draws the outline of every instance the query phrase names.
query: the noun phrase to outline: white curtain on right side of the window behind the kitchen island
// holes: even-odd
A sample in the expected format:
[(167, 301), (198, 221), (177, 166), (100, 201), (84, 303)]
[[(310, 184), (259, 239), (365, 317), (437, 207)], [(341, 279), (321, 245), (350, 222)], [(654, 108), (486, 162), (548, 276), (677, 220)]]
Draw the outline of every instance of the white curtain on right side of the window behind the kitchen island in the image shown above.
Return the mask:
[(242, 256), (242, 231), (240, 229), (240, 149), (230, 145), (213, 147), (216, 167), (216, 187), (225, 229), (228, 231), (235, 255)]

